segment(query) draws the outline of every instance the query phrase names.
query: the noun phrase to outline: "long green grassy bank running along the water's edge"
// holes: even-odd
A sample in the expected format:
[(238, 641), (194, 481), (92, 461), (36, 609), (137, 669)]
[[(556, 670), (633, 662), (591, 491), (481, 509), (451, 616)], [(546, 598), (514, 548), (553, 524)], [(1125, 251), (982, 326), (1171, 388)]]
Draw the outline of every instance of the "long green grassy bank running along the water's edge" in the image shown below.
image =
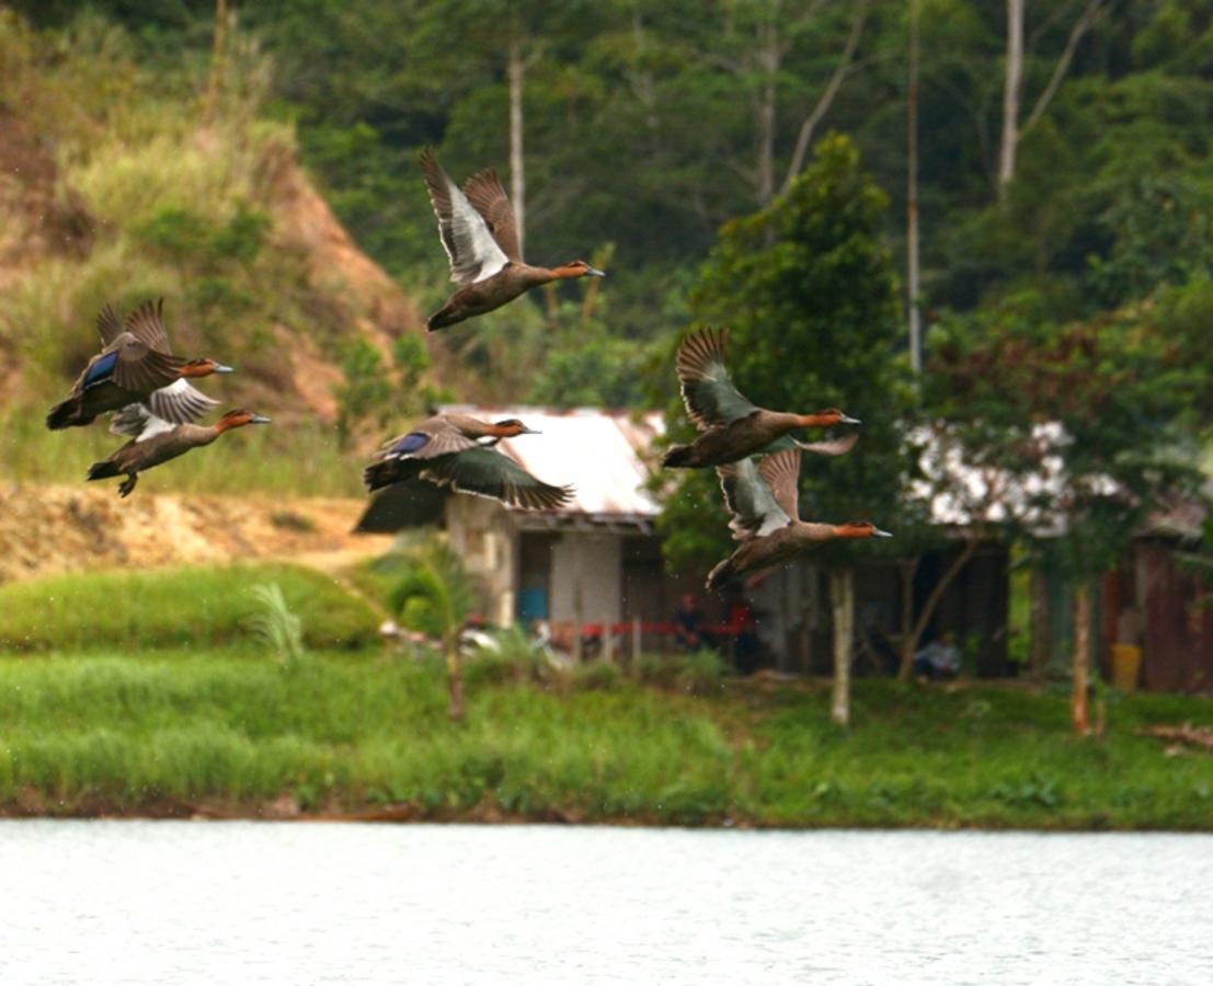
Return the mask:
[(377, 651), (284, 666), (251, 648), (0, 660), (6, 814), (353, 814), (759, 826), (1213, 830), (1213, 757), (1151, 723), (1213, 703), (1132, 696), (1104, 739), (1061, 694), (861, 682), (849, 733), (824, 689), (706, 695), (611, 674), (540, 686)]

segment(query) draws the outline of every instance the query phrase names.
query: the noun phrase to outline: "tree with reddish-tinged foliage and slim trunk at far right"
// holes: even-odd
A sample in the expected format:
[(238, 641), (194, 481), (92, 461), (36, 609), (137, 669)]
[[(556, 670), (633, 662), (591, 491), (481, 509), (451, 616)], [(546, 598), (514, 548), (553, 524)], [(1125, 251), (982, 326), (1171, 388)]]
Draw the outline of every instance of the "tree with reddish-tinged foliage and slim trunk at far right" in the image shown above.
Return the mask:
[(1065, 325), (1041, 307), (1025, 292), (940, 326), (930, 406), (972, 466), (969, 490), (985, 490), (986, 519), (1074, 587), (1072, 709), (1086, 734), (1090, 585), (1169, 496), (1201, 498), (1190, 427), (1213, 377), (1200, 334), (1160, 331), (1152, 307)]

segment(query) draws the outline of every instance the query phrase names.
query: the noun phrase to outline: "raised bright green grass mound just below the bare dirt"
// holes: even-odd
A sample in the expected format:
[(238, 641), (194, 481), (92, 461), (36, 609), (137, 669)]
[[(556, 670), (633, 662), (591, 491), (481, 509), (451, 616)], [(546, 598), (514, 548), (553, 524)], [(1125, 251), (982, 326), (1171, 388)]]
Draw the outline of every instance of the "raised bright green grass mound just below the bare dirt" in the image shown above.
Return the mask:
[(325, 575), (286, 564), (56, 575), (0, 586), (0, 649), (215, 646), (252, 640), (254, 587), (277, 583), (314, 648), (359, 646), (378, 617)]

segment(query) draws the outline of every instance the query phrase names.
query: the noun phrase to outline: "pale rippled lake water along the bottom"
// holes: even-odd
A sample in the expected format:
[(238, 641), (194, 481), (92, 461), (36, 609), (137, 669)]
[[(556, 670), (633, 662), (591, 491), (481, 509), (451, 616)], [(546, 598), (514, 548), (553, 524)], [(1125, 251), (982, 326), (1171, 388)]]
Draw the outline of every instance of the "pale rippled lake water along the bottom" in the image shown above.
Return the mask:
[(1213, 837), (0, 822), (0, 982), (1213, 982)]

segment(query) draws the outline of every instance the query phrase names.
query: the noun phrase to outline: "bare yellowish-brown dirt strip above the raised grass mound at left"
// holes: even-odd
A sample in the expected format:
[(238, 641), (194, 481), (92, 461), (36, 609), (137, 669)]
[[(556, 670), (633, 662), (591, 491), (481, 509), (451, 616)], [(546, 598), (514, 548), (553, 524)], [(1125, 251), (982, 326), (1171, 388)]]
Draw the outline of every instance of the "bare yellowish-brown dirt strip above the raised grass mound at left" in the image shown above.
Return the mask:
[(389, 538), (349, 534), (365, 502), (0, 488), (0, 582), (64, 571), (291, 559), (335, 571)]

